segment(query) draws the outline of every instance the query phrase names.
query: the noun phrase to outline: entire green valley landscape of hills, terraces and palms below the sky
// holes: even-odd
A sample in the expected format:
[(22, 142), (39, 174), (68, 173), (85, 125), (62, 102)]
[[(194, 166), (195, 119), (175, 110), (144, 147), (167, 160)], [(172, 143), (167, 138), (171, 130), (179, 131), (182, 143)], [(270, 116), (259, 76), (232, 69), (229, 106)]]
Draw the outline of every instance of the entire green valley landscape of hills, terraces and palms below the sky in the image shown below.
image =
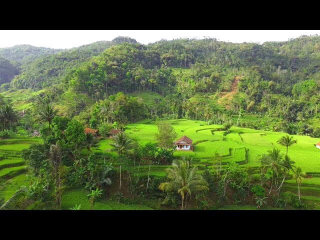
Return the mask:
[(319, 46), (0, 48), (0, 209), (320, 209)]

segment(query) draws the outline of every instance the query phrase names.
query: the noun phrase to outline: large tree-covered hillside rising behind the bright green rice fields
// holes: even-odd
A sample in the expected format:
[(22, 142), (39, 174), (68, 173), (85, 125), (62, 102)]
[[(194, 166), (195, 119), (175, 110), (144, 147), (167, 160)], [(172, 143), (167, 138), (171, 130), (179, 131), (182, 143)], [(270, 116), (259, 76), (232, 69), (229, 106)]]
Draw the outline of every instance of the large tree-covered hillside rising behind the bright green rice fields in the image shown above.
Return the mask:
[[(141, 118), (244, 124), (243, 114), (254, 119), (263, 114), (268, 118), (243, 126), (311, 134), (307, 123), (320, 124), (320, 36), (262, 44), (205, 38), (148, 45), (117, 37), (23, 64), (10, 87), (46, 88), (48, 98), (59, 104), (80, 94), (89, 104), (88, 99), (108, 101), (121, 91), (135, 96), (143, 91), (149, 104)], [(83, 109), (74, 107), (72, 117)]]

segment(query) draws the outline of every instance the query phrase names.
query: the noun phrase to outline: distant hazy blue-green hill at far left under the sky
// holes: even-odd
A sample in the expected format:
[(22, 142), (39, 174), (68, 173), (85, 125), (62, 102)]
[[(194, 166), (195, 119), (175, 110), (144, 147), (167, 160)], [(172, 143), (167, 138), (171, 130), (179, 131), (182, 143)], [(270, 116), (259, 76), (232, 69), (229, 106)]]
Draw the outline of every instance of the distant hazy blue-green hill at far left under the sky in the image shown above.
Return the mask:
[(54, 54), (61, 50), (62, 49), (53, 49), (22, 44), (12, 47), (0, 48), (0, 57), (3, 57), (11, 61), (13, 64), (19, 66), (25, 62), (35, 60), (41, 56)]

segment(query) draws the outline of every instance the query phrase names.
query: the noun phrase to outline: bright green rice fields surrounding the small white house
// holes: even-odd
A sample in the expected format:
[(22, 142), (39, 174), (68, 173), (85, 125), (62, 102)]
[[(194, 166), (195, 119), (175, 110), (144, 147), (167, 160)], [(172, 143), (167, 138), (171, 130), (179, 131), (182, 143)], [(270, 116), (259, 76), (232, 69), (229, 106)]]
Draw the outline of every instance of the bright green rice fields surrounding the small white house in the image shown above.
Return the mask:
[[(227, 161), (243, 161), (245, 151), (248, 149), (248, 162), (246, 165), (258, 166), (259, 156), (266, 153), (267, 150), (272, 150), (273, 147), (279, 148), (282, 153), (285, 153), (285, 147), (276, 143), (276, 141), (285, 133), (254, 130), (249, 128), (231, 127), (231, 132), (226, 136), (222, 135), (221, 131), (211, 133), (207, 128), (218, 128), (220, 125), (203, 125), (204, 121), (193, 120), (167, 120), (174, 127), (177, 138), (183, 135), (188, 136), (193, 142), (198, 140), (207, 140), (195, 145), (194, 151), (174, 151), (174, 156), (179, 157), (182, 154), (191, 154), (206, 162), (215, 151), (223, 155), (223, 160)], [(135, 128), (134, 128), (135, 126)], [(138, 139), (140, 144), (145, 144), (149, 141), (155, 142), (154, 133), (157, 131), (157, 126), (154, 121), (144, 120), (127, 125), (125, 132), (132, 138)], [(312, 138), (310, 136), (294, 135), (297, 139), (297, 144), (289, 147), (288, 154), (296, 165), (301, 166), (305, 172), (320, 173), (320, 149), (314, 144), (320, 141), (320, 138)], [(110, 141), (104, 140), (104, 141)], [(105, 144), (105, 142), (104, 142)], [(107, 146), (107, 145), (105, 145)], [(231, 148), (231, 155), (228, 155)], [(233, 154), (232, 154), (233, 153)]]

